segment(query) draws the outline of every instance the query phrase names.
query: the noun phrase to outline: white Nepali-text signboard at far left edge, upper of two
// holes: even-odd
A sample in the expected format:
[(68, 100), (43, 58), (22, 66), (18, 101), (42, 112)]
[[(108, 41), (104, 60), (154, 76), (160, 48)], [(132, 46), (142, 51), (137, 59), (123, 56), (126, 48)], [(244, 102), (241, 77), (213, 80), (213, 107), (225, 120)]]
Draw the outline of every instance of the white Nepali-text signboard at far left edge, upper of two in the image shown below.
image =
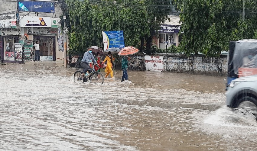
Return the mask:
[(16, 14), (0, 15), (0, 28), (16, 27)]

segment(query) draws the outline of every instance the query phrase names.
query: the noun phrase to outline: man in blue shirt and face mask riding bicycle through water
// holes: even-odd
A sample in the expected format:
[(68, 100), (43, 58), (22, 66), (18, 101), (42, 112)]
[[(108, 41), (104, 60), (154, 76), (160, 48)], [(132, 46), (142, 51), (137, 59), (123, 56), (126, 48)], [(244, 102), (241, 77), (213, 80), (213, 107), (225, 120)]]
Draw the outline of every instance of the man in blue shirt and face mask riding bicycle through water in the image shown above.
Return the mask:
[[(92, 59), (93, 62), (90, 60)], [(81, 60), (81, 63), (80, 65), (84, 68), (83, 70), (83, 73), (81, 74), (81, 77), (84, 78), (86, 72), (88, 71), (89, 73), (91, 72), (89, 69), (90, 69), (90, 66), (89, 66), (89, 63), (91, 64), (96, 64), (96, 65), (99, 65), (97, 62), (96, 62), (96, 59), (94, 58), (93, 54), (92, 54), (92, 48), (88, 48), (87, 52), (84, 53), (84, 56)]]

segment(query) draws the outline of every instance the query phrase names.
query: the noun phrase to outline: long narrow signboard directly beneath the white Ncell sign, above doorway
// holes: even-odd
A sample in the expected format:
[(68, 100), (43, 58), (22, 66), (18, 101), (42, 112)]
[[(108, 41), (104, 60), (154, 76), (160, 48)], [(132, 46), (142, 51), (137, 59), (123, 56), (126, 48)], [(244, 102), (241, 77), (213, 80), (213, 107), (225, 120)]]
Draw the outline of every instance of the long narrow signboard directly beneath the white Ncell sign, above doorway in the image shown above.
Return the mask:
[(51, 30), (51, 28), (47, 27), (28, 27), (27, 29), (28, 35), (57, 35), (56, 30)]

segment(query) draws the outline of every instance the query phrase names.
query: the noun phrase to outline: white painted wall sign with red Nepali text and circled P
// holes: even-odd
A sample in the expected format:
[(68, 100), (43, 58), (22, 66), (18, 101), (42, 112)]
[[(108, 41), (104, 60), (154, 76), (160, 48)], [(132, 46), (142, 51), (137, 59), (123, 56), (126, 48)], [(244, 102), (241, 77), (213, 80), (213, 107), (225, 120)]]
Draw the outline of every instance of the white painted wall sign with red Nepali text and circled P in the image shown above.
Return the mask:
[(164, 70), (163, 56), (145, 56), (145, 64), (147, 71), (162, 72)]

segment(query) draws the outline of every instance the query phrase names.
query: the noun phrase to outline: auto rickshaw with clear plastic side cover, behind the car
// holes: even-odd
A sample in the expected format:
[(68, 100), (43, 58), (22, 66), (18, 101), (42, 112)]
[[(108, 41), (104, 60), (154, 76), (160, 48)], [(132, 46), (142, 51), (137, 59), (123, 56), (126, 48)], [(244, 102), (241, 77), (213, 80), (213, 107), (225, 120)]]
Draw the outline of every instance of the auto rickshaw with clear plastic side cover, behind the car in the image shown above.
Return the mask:
[(257, 75), (257, 40), (229, 42), (227, 84), (236, 78)]

